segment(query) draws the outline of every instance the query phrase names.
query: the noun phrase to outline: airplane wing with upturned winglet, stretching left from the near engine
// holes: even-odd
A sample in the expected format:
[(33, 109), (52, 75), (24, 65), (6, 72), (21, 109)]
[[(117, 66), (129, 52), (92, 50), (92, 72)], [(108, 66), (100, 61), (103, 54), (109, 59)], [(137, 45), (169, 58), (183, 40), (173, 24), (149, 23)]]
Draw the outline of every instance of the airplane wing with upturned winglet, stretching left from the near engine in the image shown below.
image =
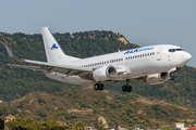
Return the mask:
[(39, 66), (26, 66), (26, 65), (9, 64), (8, 66), (27, 68), (27, 69), (33, 69), (33, 70), (42, 70), (46, 73), (56, 72), (56, 73), (65, 74), (66, 76), (78, 75), (82, 78), (94, 80), (93, 75), (91, 75), (93, 74), (91, 68), (81, 68), (77, 66), (58, 65), (58, 64), (51, 64), (51, 63), (49, 64), (46, 62), (19, 58), (15, 55), (13, 55), (12, 51), (9, 49), (7, 44), (4, 46), (5, 46), (9, 56), (12, 60), (39, 65)]

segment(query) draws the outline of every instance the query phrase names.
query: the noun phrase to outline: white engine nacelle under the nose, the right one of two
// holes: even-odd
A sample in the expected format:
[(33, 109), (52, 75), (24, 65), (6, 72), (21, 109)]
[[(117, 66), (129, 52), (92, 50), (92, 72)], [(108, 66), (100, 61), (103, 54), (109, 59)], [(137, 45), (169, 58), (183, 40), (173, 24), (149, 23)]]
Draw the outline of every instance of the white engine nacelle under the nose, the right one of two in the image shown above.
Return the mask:
[(169, 79), (170, 79), (170, 75), (168, 73), (161, 73), (161, 74), (148, 75), (145, 81), (149, 84), (157, 84), (157, 83), (162, 83)]

